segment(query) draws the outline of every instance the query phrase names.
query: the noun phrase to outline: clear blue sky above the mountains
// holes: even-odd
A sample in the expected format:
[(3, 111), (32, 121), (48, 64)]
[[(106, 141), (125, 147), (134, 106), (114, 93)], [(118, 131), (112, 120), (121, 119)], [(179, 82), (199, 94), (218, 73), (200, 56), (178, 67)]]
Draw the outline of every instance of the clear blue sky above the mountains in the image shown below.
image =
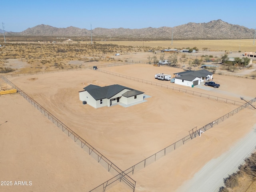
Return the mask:
[(3, 0), (0, 5), (0, 29), (3, 22), (4, 29), (12, 32), (40, 24), (139, 29), (218, 19), (256, 28), (255, 0)]

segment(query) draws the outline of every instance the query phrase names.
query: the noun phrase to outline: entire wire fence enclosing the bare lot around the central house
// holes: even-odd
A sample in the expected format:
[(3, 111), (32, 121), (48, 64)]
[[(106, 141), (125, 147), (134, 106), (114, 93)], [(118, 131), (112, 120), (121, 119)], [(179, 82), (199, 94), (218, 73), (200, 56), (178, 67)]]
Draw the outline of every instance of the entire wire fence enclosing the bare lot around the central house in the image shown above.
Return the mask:
[[(116, 64), (108, 64), (108, 65), (101, 66), (101, 67), (120, 66), (120, 65), (135, 64), (135, 63), (136, 62), (116, 63)], [(12, 82), (10, 82), (7, 79), (8, 77), (15, 77), (15, 76), (28, 76), (28, 75), (33, 75), (33, 74), (46, 74), (46, 73), (74, 71), (74, 70), (83, 70), (83, 69), (93, 69), (93, 67), (91, 66), (91, 67), (84, 67), (84, 68), (61, 69), (61, 70), (52, 70), (52, 71), (45, 71), (45, 72), (31, 72), (31, 73), (26, 73), (26, 74), (10, 74), (10, 75), (6, 75), (6, 76), (2, 76), (2, 79), (4, 80), (4, 82), (9, 84), (13, 88), (16, 88), (18, 93), (21, 96), (23, 96), (28, 102), (30, 102), (35, 108), (37, 108), (42, 114), (44, 114), (44, 116), (46, 116), (49, 120), (51, 120), (52, 123), (54, 123), (58, 128), (60, 128), (62, 130), (62, 132), (66, 133), (66, 135), (68, 135), (68, 137), (70, 137), (72, 140), (74, 140), (74, 142), (76, 142), (79, 146), (81, 146), (81, 148), (83, 150), (85, 150), (90, 156), (92, 156), (92, 158), (97, 160), (98, 163), (100, 163), (106, 170), (108, 170), (108, 172), (115, 175), (110, 180), (108, 180), (108, 181), (104, 182), (103, 184), (100, 184), (96, 188), (90, 190), (90, 192), (96, 192), (96, 191), (99, 191), (99, 192), (103, 191), (104, 192), (105, 190), (114, 186), (117, 182), (124, 182), (125, 184), (127, 184), (134, 191), (136, 182), (132, 178), (130, 178), (130, 176), (128, 176), (128, 174), (130, 174), (130, 173), (134, 174), (134, 172), (136, 172), (138, 170), (141, 170), (142, 168), (145, 168), (146, 166), (148, 166), (149, 164), (152, 164), (153, 162), (156, 162), (156, 160), (158, 160), (158, 159), (166, 156), (166, 154), (176, 150), (176, 148), (178, 148), (179, 146), (182, 146), (185, 143), (187, 143), (188, 141), (192, 140), (193, 138), (196, 138), (196, 136), (200, 136), (201, 131), (206, 131), (206, 130), (212, 128), (213, 126), (219, 124), (220, 122), (223, 122), (224, 120), (228, 119), (230, 116), (233, 116), (234, 114), (238, 113), (243, 108), (248, 107), (249, 103), (251, 104), (252, 102), (255, 102), (255, 100), (256, 100), (256, 98), (254, 98), (254, 99), (250, 100), (249, 102), (247, 102), (246, 104), (244, 104), (242, 102), (238, 102), (238, 101), (234, 101), (234, 100), (230, 100), (230, 99), (226, 99), (226, 98), (212, 96), (212, 95), (209, 95), (209, 94), (204, 94), (204, 93), (200, 93), (200, 92), (186, 90), (186, 89), (183, 89), (183, 88), (177, 88), (177, 87), (174, 87), (174, 86), (168, 86), (168, 85), (165, 85), (165, 84), (151, 82), (151, 81), (148, 81), (148, 80), (142, 80), (142, 79), (139, 79), (139, 78), (134, 78), (134, 77), (130, 77), (130, 76), (126, 76), (126, 75), (117, 74), (117, 73), (114, 73), (114, 72), (109, 72), (109, 71), (98, 69), (98, 71), (104, 72), (106, 74), (111, 74), (111, 75), (114, 75), (114, 76), (130, 79), (130, 80), (134, 80), (134, 81), (137, 81), (137, 82), (142, 82), (142, 83), (146, 83), (146, 84), (150, 84), (150, 85), (154, 85), (154, 86), (160, 86), (162, 88), (167, 88), (167, 89), (175, 90), (175, 91), (178, 91), (178, 92), (184, 92), (184, 93), (187, 93), (187, 94), (192, 94), (192, 95), (195, 95), (195, 96), (200, 96), (200, 97), (204, 97), (204, 98), (208, 98), (208, 99), (213, 99), (213, 100), (220, 101), (220, 102), (231, 103), (231, 104), (234, 104), (234, 105), (243, 104), (242, 106), (236, 108), (232, 112), (229, 112), (228, 114), (218, 118), (217, 120), (212, 121), (211, 123), (203, 126), (200, 129), (194, 128), (194, 129), (190, 130), (189, 131), (190, 134), (188, 136), (182, 138), (181, 140), (178, 140), (177, 142), (171, 144), (170, 146), (168, 146), (168, 147), (160, 150), (159, 152), (153, 154), (152, 156), (142, 160), (141, 162), (139, 162), (138, 164), (128, 168), (127, 170), (122, 171), (117, 166), (115, 166), (112, 162), (110, 162), (110, 160), (108, 160), (105, 156), (103, 156), (100, 152), (98, 152), (95, 148), (93, 148), (90, 144), (88, 144), (85, 140), (80, 138), (80, 136), (78, 136), (74, 131), (72, 131), (70, 128), (68, 128), (65, 124), (63, 124), (55, 116), (50, 114), (50, 112), (48, 112), (46, 109), (44, 109), (42, 106), (40, 106), (40, 104), (35, 102), (32, 98), (30, 98), (27, 94), (25, 94), (22, 90), (20, 90), (17, 86), (15, 86)]]

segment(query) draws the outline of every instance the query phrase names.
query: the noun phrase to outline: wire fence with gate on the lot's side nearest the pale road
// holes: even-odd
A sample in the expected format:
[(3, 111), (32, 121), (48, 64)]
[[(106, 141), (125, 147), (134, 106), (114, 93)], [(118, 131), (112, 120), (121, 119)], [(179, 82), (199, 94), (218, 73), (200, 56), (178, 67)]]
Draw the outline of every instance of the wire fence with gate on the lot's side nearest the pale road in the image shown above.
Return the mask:
[[(134, 172), (141, 170), (143, 168), (145, 168), (146, 166), (148, 166), (149, 164), (152, 164), (153, 162), (156, 162), (156, 160), (166, 156), (166, 154), (176, 150), (176, 148), (186, 144), (188, 141), (192, 140), (193, 138), (196, 138), (196, 136), (200, 136), (201, 132), (209, 130), (210, 128), (218, 125), (220, 122), (223, 122), (224, 120), (228, 119), (230, 116), (233, 116), (234, 114), (240, 112), (242, 109), (250, 106), (250, 104), (252, 104), (252, 102), (255, 102), (256, 98), (250, 100), (249, 102), (243, 104), (242, 106), (239, 106), (238, 108), (236, 108), (235, 110), (232, 110), (231, 112), (225, 114), (224, 116), (206, 124), (205, 126), (197, 129), (193, 128), (192, 130), (189, 131), (189, 135), (178, 140), (177, 142), (174, 142), (173, 144), (169, 145), (168, 147), (156, 152), (155, 154), (149, 156), (148, 158), (138, 162), (137, 164), (135, 164), (134, 166), (128, 168), (127, 170), (125, 170), (124, 172), (126, 174), (134, 174)], [(250, 103), (250, 104), (249, 104)], [(254, 110), (254, 108), (252, 108)]]

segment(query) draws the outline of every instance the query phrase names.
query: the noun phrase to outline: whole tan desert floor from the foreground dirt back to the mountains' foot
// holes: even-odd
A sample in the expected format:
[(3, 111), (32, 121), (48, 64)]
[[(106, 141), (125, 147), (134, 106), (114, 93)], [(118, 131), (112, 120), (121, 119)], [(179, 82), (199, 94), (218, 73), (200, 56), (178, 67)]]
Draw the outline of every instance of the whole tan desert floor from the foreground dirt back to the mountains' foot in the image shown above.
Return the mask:
[[(243, 105), (244, 100), (256, 97), (255, 60), (252, 67), (238, 68), (235, 72), (214, 63), (218, 68), (214, 80), (221, 85), (216, 89), (206, 89), (204, 84), (193, 88), (180, 86), (154, 78), (156, 73), (173, 76), (182, 72), (191, 67), (189, 61), (205, 55), (221, 58), (228, 53), (229, 57), (242, 58), (246, 51), (255, 52), (255, 47), (249, 45), (252, 40), (240, 40), (240, 46), (236, 41), (176, 41), (173, 47), (170, 41), (96, 42), (94, 45), (74, 41), (56, 44), (12, 42), (0, 48), (0, 67), (13, 70), (2, 73), (1, 85), (11, 88), (4, 81), (7, 78), (125, 171), (188, 136), (193, 128), (201, 128)], [(176, 67), (157, 67), (148, 62), (148, 57), (152, 56), (160, 58), (165, 54), (168, 58), (170, 53), (160, 51), (164, 48), (194, 46), (200, 51), (177, 53)], [(120, 56), (114, 55), (117, 52)], [(182, 61), (184, 56), (186, 61)], [(92, 66), (97, 66), (98, 70), (92, 70)], [(199, 70), (199, 67), (193, 66), (192, 70)], [(120, 84), (140, 90), (146, 95), (145, 102), (95, 109), (79, 100), (78, 92), (90, 84)], [(191, 92), (225, 98), (236, 104)], [(76, 145), (19, 92), (1, 95), (0, 104), (0, 179), (13, 182), (12, 186), (0, 186), (0, 191), (133, 191), (123, 180), (106, 188), (104, 185), (96, 188), (116, 175)], [(244, 108), (145, 168), (135, 167), (134, 173), (128, 174), (136, 181), (135, 191), (188, 191), (189, 180), (208, 162), (228, 152), (248, 134), (255, 134), (255, 119), (255, 110)], [(233, 166), (226, 175), (237, 168)], [(28, 185), (14, 185), (15, 181), (26, 181)], [(255, 182), (251, 184), (248, 180), (247, 184), (250, 185), (247, 192), (255, 191)], [(211, 191), (218, 191), (219, 187)], [(243, 188), (234, 191), (245, 191)]]

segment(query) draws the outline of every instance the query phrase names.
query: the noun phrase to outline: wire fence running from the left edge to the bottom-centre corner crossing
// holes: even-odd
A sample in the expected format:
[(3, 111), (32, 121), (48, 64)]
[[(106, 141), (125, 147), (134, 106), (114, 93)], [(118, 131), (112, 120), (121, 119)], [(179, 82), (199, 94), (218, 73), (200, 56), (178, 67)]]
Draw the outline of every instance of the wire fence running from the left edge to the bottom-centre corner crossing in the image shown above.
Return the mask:
[[(135, 190), (136, 181), (134, 181), (130, 176), (125, 174), (120, 168), (118, 168), (115, 164), (113, 164), (108, 158), (106, 158), (104, 155), (102, 155), (98, 150), (96, 150), (94, 147), (92, 147), (88, 142), (86, 142), (83, 138), (81, 138), (78, 134), (76, 134), (73, 130), (71, 130), (68, 126), (66, 126), (63, 122), (61, 122), (58, 118), (56, 118), (54, 115), (52, 115), (50, 112), (48, 112), (44, 107), (42, 107), (40, 104), (38, 104), (35, 100), (30, 98), (25, 92), (23, 92), (20, 88), (18, 88), (16, 85), (14, 85), (10, 80), (8, 80), (6, 77), (2, 76), (2, 79), (4, 82), (15, 88), (18, 93), (25, 98), (32, 106), (37, 108), (41, 112), (41, 114), (44, 114), (45, 117), (48, 118), (53, 124), (55, 124), (62, 132), (64, 132), (68, 137), (70, 137), (76, 144), (78, 144), (84, 151), (86, 151), (92, 158), (98, 161), (108, 172), (110, 172), (112, 175), (116, 175), (114, 178), (111, 178), (110, 180), (104, 182), (100, 186), (94, 188), (94, 190), (101, 189), (103, 192), (106, 190), (107, 186), (110, 186), (110, 184), (113, 184), (114, 182), (124, 182), (127, 184), (132, 190)], [(118, 179), (116, 179), (118, 178)], [(103, 188), (101, 188), (103, 185)], [(93, 190), (91, 190), (93, 191)]]

